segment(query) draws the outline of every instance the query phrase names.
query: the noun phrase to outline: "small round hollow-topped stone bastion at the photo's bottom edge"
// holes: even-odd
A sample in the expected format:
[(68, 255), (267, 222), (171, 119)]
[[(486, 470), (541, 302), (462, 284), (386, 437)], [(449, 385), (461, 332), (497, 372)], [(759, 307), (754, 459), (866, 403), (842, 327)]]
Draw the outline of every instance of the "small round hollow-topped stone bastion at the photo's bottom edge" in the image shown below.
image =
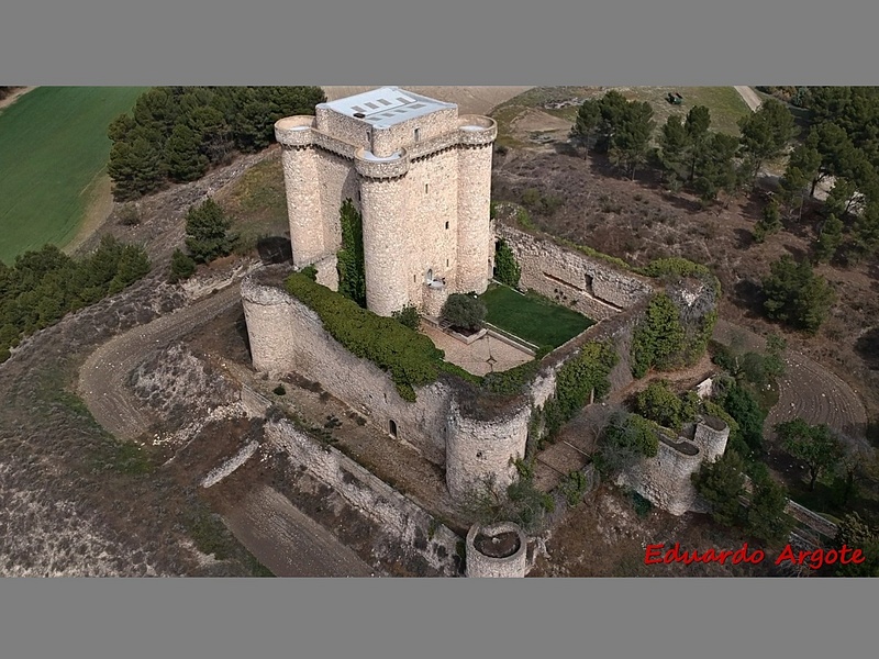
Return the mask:
[(519, 525), (474, 524), (467, 533), (467, 577), (524, 577), (527, 538)]

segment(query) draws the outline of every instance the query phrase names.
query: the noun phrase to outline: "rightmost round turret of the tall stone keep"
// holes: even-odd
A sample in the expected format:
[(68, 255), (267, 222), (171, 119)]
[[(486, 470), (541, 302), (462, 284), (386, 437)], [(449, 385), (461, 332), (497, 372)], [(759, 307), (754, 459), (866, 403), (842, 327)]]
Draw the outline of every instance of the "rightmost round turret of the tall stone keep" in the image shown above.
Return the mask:
[(491, 278), (491, 145), (498, 125), (487, 116), (458, 119), (457, 290), (483, 293)]

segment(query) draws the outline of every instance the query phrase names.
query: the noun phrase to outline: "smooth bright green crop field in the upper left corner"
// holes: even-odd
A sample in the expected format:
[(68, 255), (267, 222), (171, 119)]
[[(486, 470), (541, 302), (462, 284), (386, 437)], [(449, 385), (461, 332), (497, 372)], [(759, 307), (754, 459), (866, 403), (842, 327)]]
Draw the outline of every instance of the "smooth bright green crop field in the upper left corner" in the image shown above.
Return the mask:
[(144, 87), (38, 87), (0, 110), (0, 260), (64, 246), (107, 167), (107, 126)]

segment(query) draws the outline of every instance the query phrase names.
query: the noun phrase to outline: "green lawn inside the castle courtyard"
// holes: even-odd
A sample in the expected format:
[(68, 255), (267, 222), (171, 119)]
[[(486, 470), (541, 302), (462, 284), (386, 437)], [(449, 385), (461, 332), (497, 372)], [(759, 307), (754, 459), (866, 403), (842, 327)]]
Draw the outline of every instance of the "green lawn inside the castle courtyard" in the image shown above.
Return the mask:
[(490, 284), (480, 300), (488, 309), (488, 323), (539, 347), (557, 348), (596, 324), (581, 313), (543, 295), (522, 294), (497, 283)]

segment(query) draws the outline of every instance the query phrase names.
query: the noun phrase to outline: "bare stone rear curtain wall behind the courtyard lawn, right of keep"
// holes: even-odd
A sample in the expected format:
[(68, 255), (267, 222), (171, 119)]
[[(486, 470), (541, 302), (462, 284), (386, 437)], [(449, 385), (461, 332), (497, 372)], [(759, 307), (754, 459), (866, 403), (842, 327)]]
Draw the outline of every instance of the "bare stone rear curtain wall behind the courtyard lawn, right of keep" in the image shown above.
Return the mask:
[(522, 267), (520, 286), (549, 299), (575, 301), (574, 308), (604, 320), (645, 300), (654, 290), (646, 277), (625, 272), (600, 259), (567, 249), (502, 222), (496, 226)]

